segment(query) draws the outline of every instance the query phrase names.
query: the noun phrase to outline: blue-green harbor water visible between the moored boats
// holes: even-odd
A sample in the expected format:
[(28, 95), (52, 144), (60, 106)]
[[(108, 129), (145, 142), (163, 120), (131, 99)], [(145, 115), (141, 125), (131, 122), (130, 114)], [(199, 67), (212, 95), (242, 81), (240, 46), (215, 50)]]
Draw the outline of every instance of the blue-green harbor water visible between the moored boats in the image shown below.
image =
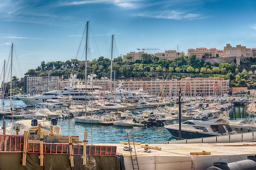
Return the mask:
[[(2, 103), (2, 101), (1, 101)], [(4, 104), (8, 106), (9, 99), (4, 99)], [(24, 105), (20, 100), (13, 100), (14, 105)], [(238, 104), (231, 108), (230, 119), (239, 119), (241, 117), (247, 117), (244, 105)], [(2, 119), (3, 120), (3, 119)], [(4, 119), (6, 124), (12, 121), (12, 119)], [(132, 128), (119, 127), (119, 126), (102, 126), (94, 124), (80, 124), (75, 123), (74, 118), (59, 119), (58, 125), (61, 126), (63, 135), (75, 135), (79, 136), (79, 140), (83, 140), (83, 132), (87, 133), (88, 144), (117, 144), (120, 141), (127, 141), (127, 133), (132, 133), (135, 142), (149, 143), (158, 141), (172, 140), (170, 133), (164, 127), (144, 127), (134, 126)], [(0, 121), (2, 126), (2, 121)]]

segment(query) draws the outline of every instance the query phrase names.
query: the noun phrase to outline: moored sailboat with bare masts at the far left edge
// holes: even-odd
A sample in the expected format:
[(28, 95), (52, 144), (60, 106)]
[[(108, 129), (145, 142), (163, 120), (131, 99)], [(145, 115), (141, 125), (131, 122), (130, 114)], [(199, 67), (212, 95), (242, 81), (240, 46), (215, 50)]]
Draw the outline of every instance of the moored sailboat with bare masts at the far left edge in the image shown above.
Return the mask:
[[(12, 78), (12, 58), (13, 58), (13, 43), (11, 44), (11, 78)], [(7, 115), (22, 115), (25, 114), (25, 110), (22, 110), (20, 107), (14, 107), (13, 102), (12, 102), (12, 80), (10, 82), (10, 106), (7, 106), (7, 108), (4, 108), (4, 79), (5, 79), (5, 61), (4, 61), (4, 77), (3, 77), (3, 83), (2, 83), (2, 93), (3, 93), (3, 98), (2, 98), (2, 109), (0, 110), (0, 117), (7, 116)]]

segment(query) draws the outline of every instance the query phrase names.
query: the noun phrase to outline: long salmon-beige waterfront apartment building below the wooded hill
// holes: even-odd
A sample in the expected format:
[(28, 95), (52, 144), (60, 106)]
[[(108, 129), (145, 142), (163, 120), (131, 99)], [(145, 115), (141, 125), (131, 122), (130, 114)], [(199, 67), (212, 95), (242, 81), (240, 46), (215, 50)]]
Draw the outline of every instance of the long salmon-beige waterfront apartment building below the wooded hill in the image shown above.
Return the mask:
[[(103, 82), (96, 80), (95, 86), (102, 86), (103, 89), (110, 91), (110, 81)], [(117, 88), (118, 83), (112, 84), (112, 89)], [(219, 96), (229, 93), (229, 80), (221, 77), (186, 77), (177, 79), (129, 79), (123, 81), (123, 88), (126, 91), (138, 91), (143, 88), (150, 95), (175, 96), (181, 88), (182, 96)]]

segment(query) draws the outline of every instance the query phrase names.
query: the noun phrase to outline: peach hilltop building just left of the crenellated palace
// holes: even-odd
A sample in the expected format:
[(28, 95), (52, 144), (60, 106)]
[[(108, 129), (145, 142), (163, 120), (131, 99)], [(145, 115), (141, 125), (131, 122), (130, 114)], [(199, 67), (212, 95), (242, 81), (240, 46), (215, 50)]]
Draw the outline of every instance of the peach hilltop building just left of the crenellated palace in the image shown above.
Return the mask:
[(196, 59), (202, 59), (204, 56), (205, 58), (213, 58), (217, 57), (217, 49), (216, 48), (211, 48), (207, 49), (205, 47), (200, 47), (196, 49), (188, 49), (188, 55), (194, 54)]

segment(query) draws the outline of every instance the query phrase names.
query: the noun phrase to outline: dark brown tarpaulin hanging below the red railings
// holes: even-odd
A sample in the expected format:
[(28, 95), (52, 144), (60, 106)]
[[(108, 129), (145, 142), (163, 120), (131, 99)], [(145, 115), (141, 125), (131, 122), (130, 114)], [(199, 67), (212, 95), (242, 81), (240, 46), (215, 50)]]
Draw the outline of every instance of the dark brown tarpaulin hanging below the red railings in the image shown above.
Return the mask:
[(44, 154), (44, 166), (40, 166), (38, 156), (28, 153), (26, 166), (22, 166), (22, 153), (0, 153), (0, 170), (124, 170), (115, 156), (88, 155), (83, 166), (83, 159), (76, 155), (74, 167), (70, 167), (69, 155)]

